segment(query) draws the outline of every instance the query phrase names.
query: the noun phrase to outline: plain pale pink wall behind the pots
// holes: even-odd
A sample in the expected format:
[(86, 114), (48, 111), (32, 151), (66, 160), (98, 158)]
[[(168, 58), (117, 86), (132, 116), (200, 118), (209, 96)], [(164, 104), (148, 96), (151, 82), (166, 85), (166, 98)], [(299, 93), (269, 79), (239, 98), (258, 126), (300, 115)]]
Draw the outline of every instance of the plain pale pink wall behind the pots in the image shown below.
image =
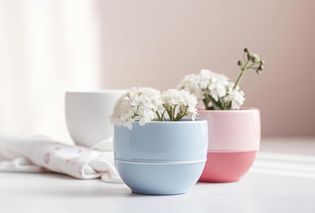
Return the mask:
[(97, 10), (104, 88), (168, 89), (202, 68), (235, 79), (248, 47), (266, 61), (241, 84), (263, 136), (315, 136), (314, 1), (103, 1)]

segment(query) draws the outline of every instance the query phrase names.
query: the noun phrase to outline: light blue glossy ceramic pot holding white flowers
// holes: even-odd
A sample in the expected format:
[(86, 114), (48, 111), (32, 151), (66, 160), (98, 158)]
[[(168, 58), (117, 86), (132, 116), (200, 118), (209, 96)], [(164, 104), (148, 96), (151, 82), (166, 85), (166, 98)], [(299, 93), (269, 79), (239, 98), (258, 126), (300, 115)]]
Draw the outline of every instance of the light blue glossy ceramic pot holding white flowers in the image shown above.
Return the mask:
[(186, 193), (198, 181), (208, 151), (206, 120), (151, 122), (132, 130), (114, 127), (116, 169), (132, 192)]

